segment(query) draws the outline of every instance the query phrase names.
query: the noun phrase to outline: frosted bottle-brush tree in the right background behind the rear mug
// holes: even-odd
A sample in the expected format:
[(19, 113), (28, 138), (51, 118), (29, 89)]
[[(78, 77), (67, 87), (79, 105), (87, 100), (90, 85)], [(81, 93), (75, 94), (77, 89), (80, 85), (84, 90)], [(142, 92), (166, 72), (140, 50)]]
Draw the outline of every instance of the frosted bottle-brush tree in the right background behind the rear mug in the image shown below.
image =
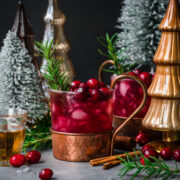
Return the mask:
[(169, 0), (124, 0), (118, 18), (119, 41), (127, 60), (153, 64), (161, 32), (158, 30)]

